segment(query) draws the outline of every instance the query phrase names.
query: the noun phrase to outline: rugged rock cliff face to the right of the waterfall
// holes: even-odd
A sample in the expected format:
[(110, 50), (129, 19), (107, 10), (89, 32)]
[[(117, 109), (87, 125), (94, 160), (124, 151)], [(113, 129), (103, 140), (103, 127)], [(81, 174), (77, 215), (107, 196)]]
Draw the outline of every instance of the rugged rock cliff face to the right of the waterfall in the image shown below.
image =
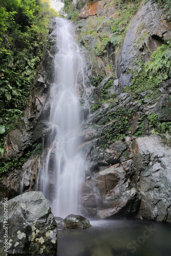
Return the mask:
[[(97, 38), (84, 35), (84, 31), (90, 19), (109, 19), (110, 15), (117, 19), (117, 12), (110, 1), (108, 5), (91, 3), (80, 10), (80, 17), (86, 20), (75, 25), (86, 63), (88, 99), (83, 96), (82, 100), (91, 109), (80, 132), (80, 147), (90, 166), (82, 185), (82, 205), (96, 218), (136, 216), (170, 222), (171, 137), (169, 133), (153, 135), (150, 117), (156, 114), (159, 123), (170, 122), (171, 81), (161, 84), (156, 97), (150, 97), (149, 90), (124, 93), (125, 86), (131, 84), (131, 70), (137, 69), (135, 61), (151, 60), (158, 46), (170, 38), (170, 23), (163, 11), (148, 1), (133, 17), (119, 52), (109, 44), (106, 55), (96, 56)], [(104, 24), (99, 29), (107, 30)], [(114, 67), (110, 74), (107, 62)]]

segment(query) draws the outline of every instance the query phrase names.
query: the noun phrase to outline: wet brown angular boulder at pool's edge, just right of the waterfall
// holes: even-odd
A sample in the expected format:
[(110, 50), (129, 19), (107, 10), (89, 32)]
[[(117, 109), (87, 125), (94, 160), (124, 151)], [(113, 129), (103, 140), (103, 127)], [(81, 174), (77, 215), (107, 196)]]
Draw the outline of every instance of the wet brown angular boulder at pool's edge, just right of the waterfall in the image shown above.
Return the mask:
[(92, 179), (99, 201), (97, 218), (132, 217), (136, 214), (140, 204), (139, 193), (123, 165), (115, 164), (106, 168), (94, 174)]

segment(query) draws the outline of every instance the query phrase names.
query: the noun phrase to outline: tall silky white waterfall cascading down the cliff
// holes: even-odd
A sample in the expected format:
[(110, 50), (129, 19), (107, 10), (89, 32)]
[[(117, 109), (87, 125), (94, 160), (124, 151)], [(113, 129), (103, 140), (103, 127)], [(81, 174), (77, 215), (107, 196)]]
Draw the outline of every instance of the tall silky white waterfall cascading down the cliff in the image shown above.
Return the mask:
[(53, 214), (66, 217), (79, 213), (78, 187), (84, 168), (83, 158), (77, 151), (79, 101), (76, 94), (82, 60), (72, 36), (72, 24), (61, 18), (56, 18), (56, 23), (57, 54), (50, 112), (54, 138), (39, 171), (38, 187), (49, 199)]

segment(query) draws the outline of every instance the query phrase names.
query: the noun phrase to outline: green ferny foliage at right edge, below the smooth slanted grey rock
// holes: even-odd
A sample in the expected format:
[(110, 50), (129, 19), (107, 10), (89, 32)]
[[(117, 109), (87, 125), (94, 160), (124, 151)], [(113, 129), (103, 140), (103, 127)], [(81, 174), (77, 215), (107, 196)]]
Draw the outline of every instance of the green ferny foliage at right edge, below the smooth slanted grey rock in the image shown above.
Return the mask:
[(148, 89), (155, 91), (160, 83), (171, 76), (171, 41), (169, 40), (158, 47), (152, 54), (152, 61), (143, 63), (139, 60), (138, 70), (133, 70), (131, 86), (126, 87), (126, 92), (140, 93)]

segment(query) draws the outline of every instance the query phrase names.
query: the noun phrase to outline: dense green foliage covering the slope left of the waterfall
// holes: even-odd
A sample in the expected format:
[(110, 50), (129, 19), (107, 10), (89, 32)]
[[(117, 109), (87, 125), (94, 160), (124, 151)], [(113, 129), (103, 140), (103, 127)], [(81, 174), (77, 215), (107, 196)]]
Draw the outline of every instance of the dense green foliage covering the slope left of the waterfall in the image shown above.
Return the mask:
[(0, 116), (6, 133), (14, 129), (29, 104), (54, 14), (49, 0), (0, 3)]

